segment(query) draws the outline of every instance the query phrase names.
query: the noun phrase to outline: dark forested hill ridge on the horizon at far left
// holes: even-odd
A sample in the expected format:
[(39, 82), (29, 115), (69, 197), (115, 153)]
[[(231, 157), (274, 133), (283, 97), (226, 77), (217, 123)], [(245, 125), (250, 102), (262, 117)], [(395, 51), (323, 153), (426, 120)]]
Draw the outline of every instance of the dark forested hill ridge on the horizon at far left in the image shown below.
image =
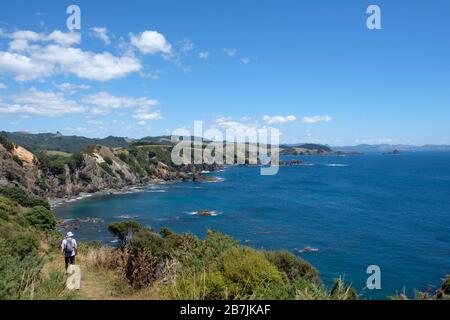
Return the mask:
[(88, 146), (93, 144), (117, 148), (126, 147), (133, 142), (130, 139), (121, 137), (110, 136), (103, 139), (91, 139), (80, 136), (65, 136), (59, 132), (38, 134), (27, 132), (2, 132), (2, 135), (32, 152), (55, 150), (74, 153), (84, 151)]

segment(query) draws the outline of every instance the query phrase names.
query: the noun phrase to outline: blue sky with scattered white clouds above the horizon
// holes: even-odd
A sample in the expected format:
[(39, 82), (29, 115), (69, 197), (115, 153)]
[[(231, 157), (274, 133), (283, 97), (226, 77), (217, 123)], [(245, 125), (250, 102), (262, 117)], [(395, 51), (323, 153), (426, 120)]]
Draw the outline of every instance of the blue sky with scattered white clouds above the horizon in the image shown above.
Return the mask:
[(288, 143), (450, 144), (448, 21), (445, 0), (2, 2), (0, 128), (138, 138), (201, 120)]

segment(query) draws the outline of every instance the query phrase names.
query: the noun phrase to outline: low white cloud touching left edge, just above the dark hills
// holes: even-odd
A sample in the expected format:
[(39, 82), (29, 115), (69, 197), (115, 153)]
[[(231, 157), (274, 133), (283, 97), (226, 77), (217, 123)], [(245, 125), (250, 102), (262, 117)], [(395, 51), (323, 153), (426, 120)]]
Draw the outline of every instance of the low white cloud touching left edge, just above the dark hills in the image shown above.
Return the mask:
[(42, 92), (35, 88), (12, 96), (10, 100), (8, 103), (0, 101), (0, 113), (61, 116), (86, 111), (76, 101), (67, 100), (62, 94), (51, 91)]

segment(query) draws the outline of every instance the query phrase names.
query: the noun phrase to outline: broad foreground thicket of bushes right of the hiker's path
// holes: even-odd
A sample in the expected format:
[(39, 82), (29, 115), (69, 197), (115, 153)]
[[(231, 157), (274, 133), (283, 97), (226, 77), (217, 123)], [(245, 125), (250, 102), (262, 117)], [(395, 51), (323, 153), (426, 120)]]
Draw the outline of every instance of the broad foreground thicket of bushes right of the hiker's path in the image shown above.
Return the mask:
[[(111, 224), (122, 245), (101, 262), (136, 289), (158, 286), (168, 299), (357, 299), (341, 280), (327, 289), (317, 271), (287, 251), (258, 251), (223, 234), (160, 233), (135, 221)], [(130, 237), (131, 235), (131, 237)], [(100, 259), (100, 258), (99, 258)]]

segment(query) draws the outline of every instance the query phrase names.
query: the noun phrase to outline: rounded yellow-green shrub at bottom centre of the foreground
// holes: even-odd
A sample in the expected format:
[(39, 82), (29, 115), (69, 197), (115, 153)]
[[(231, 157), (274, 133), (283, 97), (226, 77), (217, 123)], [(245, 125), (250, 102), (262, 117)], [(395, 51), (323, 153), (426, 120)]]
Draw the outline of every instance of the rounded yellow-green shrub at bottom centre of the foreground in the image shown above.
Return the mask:
[(174, 285), (166, 289), (167, 296), (207, 300), (295, 296), (295, 290), (283, 274), (256, 250), (235, 247), (222, 252), (219, 260), (208, 257), (205, 262), (209, 264), (205, 264), (203, 270), (192, 270), (184, 265)]

